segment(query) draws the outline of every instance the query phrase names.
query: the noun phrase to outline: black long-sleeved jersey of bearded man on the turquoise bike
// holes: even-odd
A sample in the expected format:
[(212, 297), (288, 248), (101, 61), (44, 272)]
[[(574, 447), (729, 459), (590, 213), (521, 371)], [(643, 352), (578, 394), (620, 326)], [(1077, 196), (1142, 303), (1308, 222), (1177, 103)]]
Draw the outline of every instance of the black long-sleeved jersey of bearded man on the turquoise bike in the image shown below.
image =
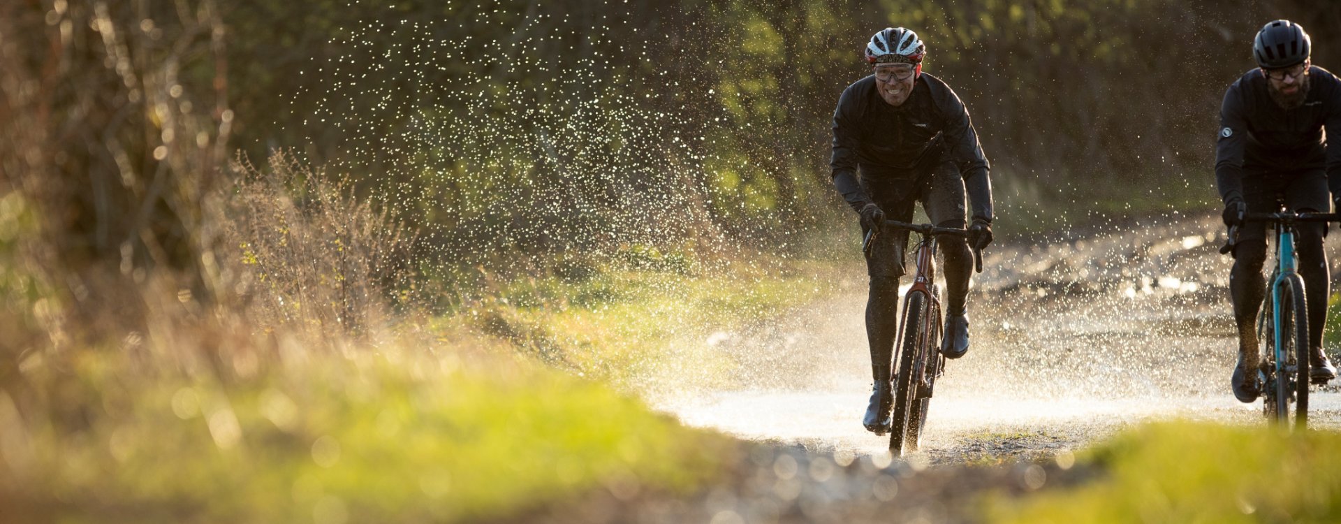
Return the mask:
[[(1215, 181), (1226, 202), (1243, 197), (1243, 173), (1326, 169), (1328, 188), (1341, 196), (1341, 80), (1309, 67), (1303, 105), (1282, 109), (1271, 99), (1262, 70), (1246, 72), (1224, 92)], [(1326, 134), (1324, 134), (1326, 130)], [(1322, 209), (1320, 209), (1322, 210)]]

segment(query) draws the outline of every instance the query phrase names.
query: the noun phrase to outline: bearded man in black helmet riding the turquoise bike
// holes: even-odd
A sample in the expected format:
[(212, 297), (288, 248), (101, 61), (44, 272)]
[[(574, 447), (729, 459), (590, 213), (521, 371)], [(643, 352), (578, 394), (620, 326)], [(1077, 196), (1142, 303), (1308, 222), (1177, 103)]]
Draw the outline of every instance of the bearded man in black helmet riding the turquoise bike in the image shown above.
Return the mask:
[[(1258, 68), (1224, 94), (1215, 181), (1226, 225), (1239, 226), (1230, 272), (1230, 298), (1239, 328), (1239, 361), (1231, 389), (1242, 402), (1261, 394), (1257, 319), (1266, 293), (1266, 224), (1243, 222), (1243, 213), (1326, 212), (1341, 196), (1341, 82), (1309, 60), (1310, 39), (1299, 24), (1275, 20), (1252, 42)], [(1324, 134), (1324, 130), (1326, 134)], [(1330, 139), (1329, 139), (1330, 138)], [(1341, 208), (1341, 200), (1336, 201)], [(1309, 348), (1314, 379), (1336, 378), (1322, 354), (1328, 310), (1326, 225), (1297, 224), (1297, 252), (1309, 306)]]

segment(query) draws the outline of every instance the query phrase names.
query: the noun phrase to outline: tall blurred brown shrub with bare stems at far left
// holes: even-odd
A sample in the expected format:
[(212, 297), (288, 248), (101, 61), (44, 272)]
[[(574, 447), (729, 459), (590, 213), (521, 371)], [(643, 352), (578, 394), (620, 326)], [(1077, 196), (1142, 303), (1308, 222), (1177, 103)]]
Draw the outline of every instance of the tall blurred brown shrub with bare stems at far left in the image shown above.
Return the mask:
[(46, 4), (0, 7), (0, 194), (38, 213), (54, 253), (42, 269), (143, 281), (162, 268), (217, 295), (211, 198), (233, 125), (221, 13), (211, 0)]

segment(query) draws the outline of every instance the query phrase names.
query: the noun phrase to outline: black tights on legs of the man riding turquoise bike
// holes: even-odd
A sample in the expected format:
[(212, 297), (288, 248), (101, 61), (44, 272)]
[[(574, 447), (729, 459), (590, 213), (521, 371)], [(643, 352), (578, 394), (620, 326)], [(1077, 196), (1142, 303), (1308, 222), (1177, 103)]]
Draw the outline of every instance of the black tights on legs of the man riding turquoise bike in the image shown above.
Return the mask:
[[(1294, 249), (1299, 255), (1299, 276), (1303, 277), (1303, 295), (1309, 304), (1309, 347), (1322, 346), (1322, 328), (1328, 319), (1328, 256), (1322, 251), (1322, 224), (1306, 222), (1297, 226)], [(1239, 334), (1255, 334), (1258, 310), (1266, 296), (1266, 240), (1248, 240), (1235, 251), (1234, 269), (1230, 271), (1230, 298), (1234, 300), (1234, 322)], [(1240, 339), (1240, 350), (1252, 350), (1255, 336)]]

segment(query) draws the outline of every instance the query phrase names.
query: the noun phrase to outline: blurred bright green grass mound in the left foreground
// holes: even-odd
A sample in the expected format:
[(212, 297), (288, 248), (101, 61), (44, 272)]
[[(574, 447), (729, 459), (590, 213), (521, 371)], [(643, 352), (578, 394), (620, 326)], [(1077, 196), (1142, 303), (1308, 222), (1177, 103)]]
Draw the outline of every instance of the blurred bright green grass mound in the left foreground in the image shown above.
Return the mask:
[(595, 382), (409, 354), (312, 351), (251, 377), (118, 351), (30, 362), (25, 398), (0, 393), (5, 520), (488, 519), (610, 482), (683, 492), (734, 449)]

